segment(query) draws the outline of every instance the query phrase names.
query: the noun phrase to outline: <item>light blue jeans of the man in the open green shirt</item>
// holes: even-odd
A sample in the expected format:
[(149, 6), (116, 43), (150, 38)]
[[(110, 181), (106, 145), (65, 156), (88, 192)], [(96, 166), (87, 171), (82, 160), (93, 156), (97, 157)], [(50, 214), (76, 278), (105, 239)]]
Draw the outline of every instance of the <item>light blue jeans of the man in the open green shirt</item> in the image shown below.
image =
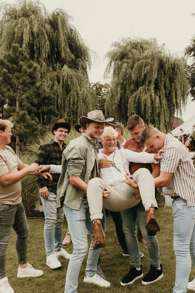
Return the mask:
[[(87, 199), (82, 200), (79, 210), (71, 209), (64, 204), (62, 207), (68, 221), (68, 227), (70, 229), (70, 235), (73, 242), (73, 253), (68, 264), (64, 292), (77, 293), (80, 268), (82, 261), (88, 251), (86, 228), (92, 237), (87, 258), (87, 266), (85, 269), (85, 273), (89, 277), (92, 277), (96, 274), (96, 267), (101, 248), (93, 250), (93, 222), (90, 219)], [(105, 236), (104, 232), (103, 235)]]

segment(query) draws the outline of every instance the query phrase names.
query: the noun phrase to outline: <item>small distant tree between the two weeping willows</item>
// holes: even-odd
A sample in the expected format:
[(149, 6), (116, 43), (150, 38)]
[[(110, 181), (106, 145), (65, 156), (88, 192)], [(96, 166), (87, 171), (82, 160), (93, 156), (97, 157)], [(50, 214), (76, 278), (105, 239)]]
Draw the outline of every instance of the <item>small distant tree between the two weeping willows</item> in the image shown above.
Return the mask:
[(91, 84), (91, 88), (95, 91), (99, 108), (102, 110), (103, 114), (105, 115), (105, 102), (106, 98), (108, 98), (109, 91), (110, 91), (110, 85), (109, 84), (101, 84), (99, 81), (96, 83)]

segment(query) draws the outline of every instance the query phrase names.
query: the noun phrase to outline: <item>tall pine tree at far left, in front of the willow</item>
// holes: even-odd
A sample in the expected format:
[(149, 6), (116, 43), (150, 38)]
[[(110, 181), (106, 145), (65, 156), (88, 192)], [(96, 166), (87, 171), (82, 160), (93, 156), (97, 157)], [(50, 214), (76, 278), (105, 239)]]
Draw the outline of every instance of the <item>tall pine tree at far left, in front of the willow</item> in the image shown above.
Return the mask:
[(12, 117), (15, 122), (16, 155), (19, 155), (20, 137), (38, 130), (36, 122), (28, 115), (25, 103), (40, 77), (38, 65), (29, 60), (17, 44), (0, 58), (0, 92), (7, 101), (5, 117)]

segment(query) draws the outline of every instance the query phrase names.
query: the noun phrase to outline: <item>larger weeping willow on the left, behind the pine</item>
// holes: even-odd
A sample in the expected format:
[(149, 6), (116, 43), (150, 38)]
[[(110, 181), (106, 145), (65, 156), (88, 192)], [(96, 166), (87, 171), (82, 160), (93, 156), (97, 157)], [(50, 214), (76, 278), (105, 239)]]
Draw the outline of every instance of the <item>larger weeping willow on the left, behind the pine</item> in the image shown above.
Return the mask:
[(88, 70), (91, 56), (70, 16), (62, 9), (46, 11), (39, 1), (17, 1), (1, 5), (0, 52), (12, 43), (40, 66), (41, 78), (50, 86), (58, 117), (76, 122), (80, 116), (98, 108), (90, 88)]

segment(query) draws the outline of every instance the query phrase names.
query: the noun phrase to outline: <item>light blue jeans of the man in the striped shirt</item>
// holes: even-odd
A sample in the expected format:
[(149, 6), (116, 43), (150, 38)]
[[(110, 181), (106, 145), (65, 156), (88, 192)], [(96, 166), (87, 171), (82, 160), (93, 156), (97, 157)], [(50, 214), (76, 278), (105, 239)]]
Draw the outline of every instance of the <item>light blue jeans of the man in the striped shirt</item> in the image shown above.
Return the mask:
[(188, 207), (186, 200), (177, 197), (172, 202), (172, 209), (173, 249), (176, 257), (173, 293), (186, 293), (191, 258), (195, 265), (195, 207)]

